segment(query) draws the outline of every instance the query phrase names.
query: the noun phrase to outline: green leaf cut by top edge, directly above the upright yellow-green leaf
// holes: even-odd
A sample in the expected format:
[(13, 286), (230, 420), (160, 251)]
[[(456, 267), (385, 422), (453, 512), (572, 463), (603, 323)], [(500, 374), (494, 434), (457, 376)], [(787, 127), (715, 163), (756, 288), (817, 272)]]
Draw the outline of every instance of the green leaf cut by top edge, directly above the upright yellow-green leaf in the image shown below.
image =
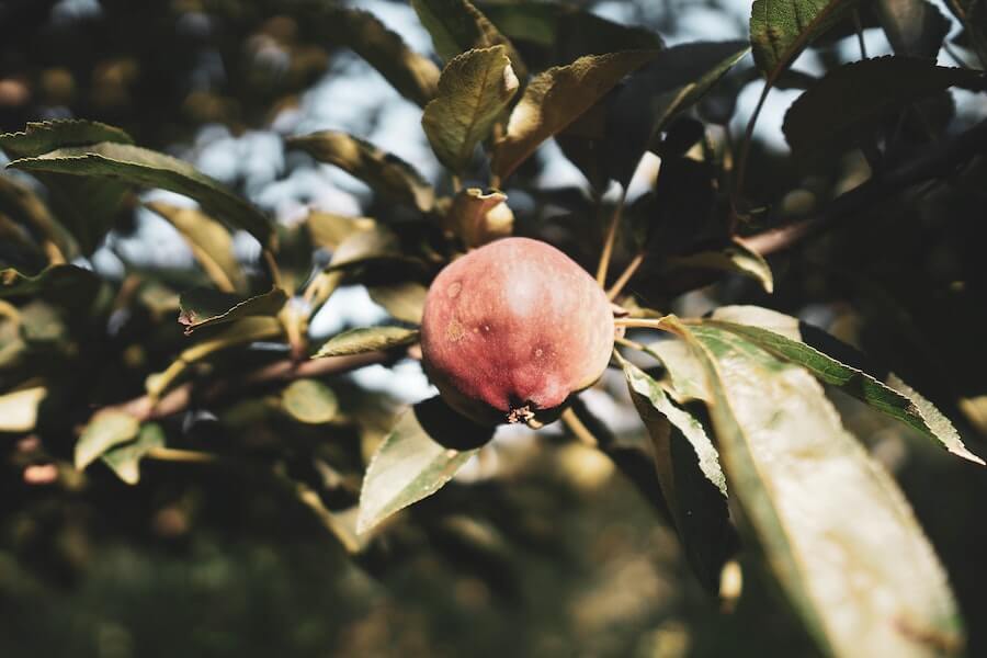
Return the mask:
[(443, 60), (474, 48), (503, 46), (514, 73), (522, 80), (527, 78), (527, 68), (510, 39), (468, 0), (411, 0), (411, 7)]

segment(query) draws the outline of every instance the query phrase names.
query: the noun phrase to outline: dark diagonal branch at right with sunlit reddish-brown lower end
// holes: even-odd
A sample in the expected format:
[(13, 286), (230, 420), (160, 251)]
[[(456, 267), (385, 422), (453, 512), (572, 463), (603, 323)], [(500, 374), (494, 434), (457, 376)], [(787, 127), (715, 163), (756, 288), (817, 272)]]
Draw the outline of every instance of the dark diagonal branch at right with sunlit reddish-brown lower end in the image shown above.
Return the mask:
[(835, 198), (818, 214), (746, 238), (745, 246), (761, 256), (783, 251), (802, 240), (836, 228), (866, 208), (885, 201), (896, 192), (948, 174), (987, 149), (987, 120), (930, 147), (924, 155), (880, 173), (865, 183)]

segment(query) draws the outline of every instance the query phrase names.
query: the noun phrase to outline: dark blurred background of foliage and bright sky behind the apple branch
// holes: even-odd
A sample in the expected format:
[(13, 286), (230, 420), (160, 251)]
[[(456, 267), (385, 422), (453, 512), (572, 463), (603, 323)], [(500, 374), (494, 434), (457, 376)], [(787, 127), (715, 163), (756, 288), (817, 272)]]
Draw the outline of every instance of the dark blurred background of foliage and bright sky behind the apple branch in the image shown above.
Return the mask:
[[(286, 151), (284, 136), (345, 129), (386, 146), (449, 191), (419, 127), (419, 109), (349, 49), (351, 35), (327, 21), (328, 4), (7, 0), (0, 3), (0, 129), (68, 117), (121, 126), (137, 144), (192, 161), (275, 216), (283, 270), (291, 272), (291, 254), (307, 258), (313, 249), (297, 228), (309, 208), (390, 222), (409, 217), (338, 169)], [(496, 20), (498, 3), (488, 4)], [(747, 2), (571, 4), (645, 26), (669, 45), (747, 38)], [(372, 11), (415, 49), (431, 52), (406, 3), (351, 5)], [(873, 14), (862, 15), (870, 54), (890, 52)], [(961, 26), (950, 30), (949, 41), (957, 42), (951, 49), (973, 61)], [(852, 29), (836, 32), (796, 68), (814, 76), (855, 59)], [(518, 41), (529, 61), (548, 66), (570, 60), (567, 44), (578, 36)], [(945, 54), (941, 58), (955, 64)], [(747, 183), (751, 232), (808, 216), (869, 173), (856, 151), (793, 163), (779, 126), (798, 87), (794, 80), (773, 92), (756, 132)], [(745, 60), (704, 100), (695, 116), (706, 122), (712, 143), (738, 137), (759, 89)], [(909, 138), (896, 144), (918, 151), (982, 120), (983, 102), (964, 91), (935, 97), (919, 115), (899, 120), (898, 132)], [(712, 232), (704, 227), (723, 211), (715, 193), (719, 181), (694, 160), (668, 159), (673, 160), (654, 194), (637, 195), (628, 213), (674, 217), (656, 238), (670, 253), (716, 238), (715, 222)], [(773, 257), (771, 296), (736, 276), (692, 290), (696, 282), (688, 276), (647, 266), (631, 290), (656, 308), (683, 314), (755, 303), (825, 327), (893, 365), (984, 454), (985, 166), (982, 158), (942, 171), (940, 184), (888, 196)], [(38, 189), (10, 172), (0, 183), (0, 212), (9, 212), (3, 204), (16, 186)], [(593, 264), (599, 216), (606, 208), (593, 204), (587, 179), (557, 146), (526, 162), (506, 192), (520, 232)], [(26, 304), (20, 327), (0, 320), (3, 388), (20, 382), (16, 373), (60, 372), (65, 360), (72, 372), (61, 376), (73, 377), (61, 386), (63, 399), (42, 407), (43, 440), (0, 436), (0, 654), (815, 655), (791, 613), (742, 558), (739, 599), (711, 600), (687, 568), (667, 521), (609, 461), (560, 428), (536, 440), (523, 432), (498, 435), (461, 478), (404, 514), (355, 559), (285, 480), (237, 463), (146, 461), (137, 487), (102, 464), (75, 472), (71, 430), (92, 409), (71, 400), (126, 399), (126, 392), (144, 386), (147, 372), (163, 370), (186, 344), (181, 327), (170, 321), (178, 313), (174, 293), (203, 275), (189, 247), (143, 201), (174, 197), (131, 195), (109, 218), (109, 237), (80, 241), (78, 262), (113, 285), (93, 283), (88, 298)], [(761, 212), (769, 206), (770, 213)], [(36, 273), (44, 261), (24, 260), (12, 235), (0, 238), (0, 260)], [(252, 239), (238, 234), (232, 249), (248, 273), (262, 269)], [(616, 261), (623, 265), (632, 257), (625, 245)], [(309, 274), (305, 268), (296, 274), (300, 280)], [(98, 311), (90, 315), (91, 309)], [(327, 336), (383, 317), (362, 287), (344, 287), (310, 331)], [(261, 348), (227, 358), (235, 363), (220, 355), (209, 367), (234, 372), (243, 360), (260, 366), (281, 356)], [(180, 446), (280, 455), (288, 481), (318, 483), (321, 504), (344, 510), (389, 412), (399, 400), (424, 397), (428, 384), (417, 364), (402, 362), (393, 373), (377, 365), (331, 378), (331, 386), (340, 408), (352, 415), (333, 426), (338, 441), (327, 442), (321, 430), (280, 412), (279, 386), (161, 422)], [(620, 378), (603, 383), (617, 398), (622, 386)], [(987, 480), (858, 402), (839, 395), (835, 400), (848, 427), (896, 475), (945, 564), (968, 623), (969, 655), (987, 655), (987, 526), (976, 511), (987, 500)], [(643, 440), (626, 404), (604, 395), (590, 395), (587, 404), (606, 418), (616, 441)]]

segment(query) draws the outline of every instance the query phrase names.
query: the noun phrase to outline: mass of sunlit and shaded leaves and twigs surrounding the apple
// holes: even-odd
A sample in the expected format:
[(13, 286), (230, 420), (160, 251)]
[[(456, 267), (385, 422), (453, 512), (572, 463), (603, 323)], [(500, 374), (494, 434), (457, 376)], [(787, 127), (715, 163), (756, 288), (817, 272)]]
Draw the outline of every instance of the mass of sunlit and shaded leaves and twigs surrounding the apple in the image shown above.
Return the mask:
[[(984, 54), (974, 4), (952, 8), (965, 43)], [(581, 262), (599, 256), (602, 242), (597, 276), (624, 307), (620, 324), (673, 337), (623, 339), (614, 354), (650, 446), (632, 464), (605, 441), (599, 447), (635, 479), (642, 460), (654, 462), (647, 477), (661, 495), (654, 502), (669, 511), (700, 580), (717, 591), (736, 523), (824, 651), (961, 647), (958, 613), (934, 553), (819, 383), (983, 464), (950, 421), (899, 378), (876, 376), (848, 345), (790, 316), (739, 306), (705, 318), (654, 310), (723, 271), (770, 293), (762, 252), (817, 230), (835, 213), (789, 225), (783, 212), (756, 212), (746, 197), (758, 112), (736, 154), (715, 137), (728, 135), (723, 127), (751, 73), (765, 79), (761, 102), (773, 87), (807, 88), (784, 123), (796, 157), (850, 148), (867, 156), (871, 186), (833, 207), (860, 209), (888, 189), (926, 182), (938, 172), (930, 158), (973, 155), (955, 146), (924, 152), (950, 125), (949, 112), (930, 117), (949, 103), (946, 90), (983, 86), (980, 71), (935, 65), (945, 34), (938, 10), (923, 0), (873, 3), (870, 18), (896, 55), (814, 79), (792, 64), (852, 18), (860, 23), (855, 3), (757, 0), (749, 43), (674, 47), (566, 5), (412, 5), (441, 67), (370, 13), (324, 8), (317, 24), (421, 106), (443, 181), (433, 185), (347, 133), (286, 139), (287, 148), (364, 181), (384, 207), (399, 208), (379, 217), (313, 211), (299, 225), (281, 226), (189, 163), (101, 123), (32, 123), (0, 136), (10, 168), (47, 192), (0, 178), (0, 432), (39, 439), (25, 444), (29, 462), (54, 460), (64, 472), (102, 462), (131, 484), (146, 458), (260, 470), (348, 551), (367, 551), (385, 519), (441, 488), (492, 430), (456, 418), (438, 398), (400, 412), (392, 427), (393, 406), (339, 375), (416, 354), (427, 286), (456, 254), (512, 234), (553, 235), (557, 218), (515, 217), (508, 196), (548, 194), (525, 189), (522, 174), (555, 138), (592, 188), (591, 198), (556, 200), (572, 211), (556, 241)], [(751, 49), (752, 69), (740, 65)], [(922, 129), (911, 129), (916, 124)], [(660, 172), (624, 207), (646, 152), (661, 158)], [(614, 182), (622, 190), (615, 205), (604, 200)], [(128, 263), (126, 276), (111, 281), (70, 264), (93, 254), (122, 209), (143, 203), (138, 188), (197, 202), (145, 204), (188, 242), (197, 269), (151, 275)], [(609, 222), (598, 220), (604, 216)], [(776, 220), (781, 228), (759, 232)], [(260, 243), (258, 266), (234, 257), (235, 230)], [(331, 254), (325, 264), (322, 251)], [(612, 276), (611, 264), (623, 273)], [(365, 285), (393, 321), (309, 344), (311, 317), (342, 284)], [(642, 355), (656, 359), (659, 372), (635, 365)], [(88, 381), (68, 376), (73, 372), (89, 373)], [(217, 413), (229, 435), (242, 438), (237, 449), (192, 450), (175, 419), (189, 409)], [(59, 461), (68, 452), (72, 466)], [(896, 547), (893, 555), (886, 545)]]

